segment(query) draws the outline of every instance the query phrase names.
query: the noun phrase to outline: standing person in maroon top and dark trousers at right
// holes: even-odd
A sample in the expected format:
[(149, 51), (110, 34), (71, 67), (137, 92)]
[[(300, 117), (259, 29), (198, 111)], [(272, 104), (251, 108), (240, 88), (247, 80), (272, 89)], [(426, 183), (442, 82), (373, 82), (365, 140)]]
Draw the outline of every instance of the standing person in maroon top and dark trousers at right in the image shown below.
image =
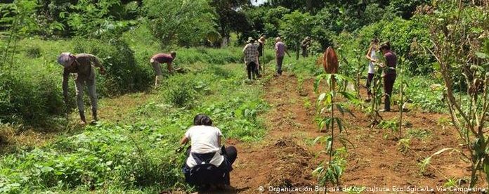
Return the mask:
[(391, 51), (391, 43), (387, 41), (382, 44), (379, 48), (380, 51), (384, 54), (384, 58), (386, 59), (386, 66), (381, 64), (381, 67), (384, 68), (384, 95), (386, 96), (384, 99), (384, 110), (380, 110), (381, 112), (389, 112), (391, 111), (391, 95), (392, 88), (394, 86), (394, 82), (396, 82), (396, 66), (397, 66), (397, 56), (396, 53)]

